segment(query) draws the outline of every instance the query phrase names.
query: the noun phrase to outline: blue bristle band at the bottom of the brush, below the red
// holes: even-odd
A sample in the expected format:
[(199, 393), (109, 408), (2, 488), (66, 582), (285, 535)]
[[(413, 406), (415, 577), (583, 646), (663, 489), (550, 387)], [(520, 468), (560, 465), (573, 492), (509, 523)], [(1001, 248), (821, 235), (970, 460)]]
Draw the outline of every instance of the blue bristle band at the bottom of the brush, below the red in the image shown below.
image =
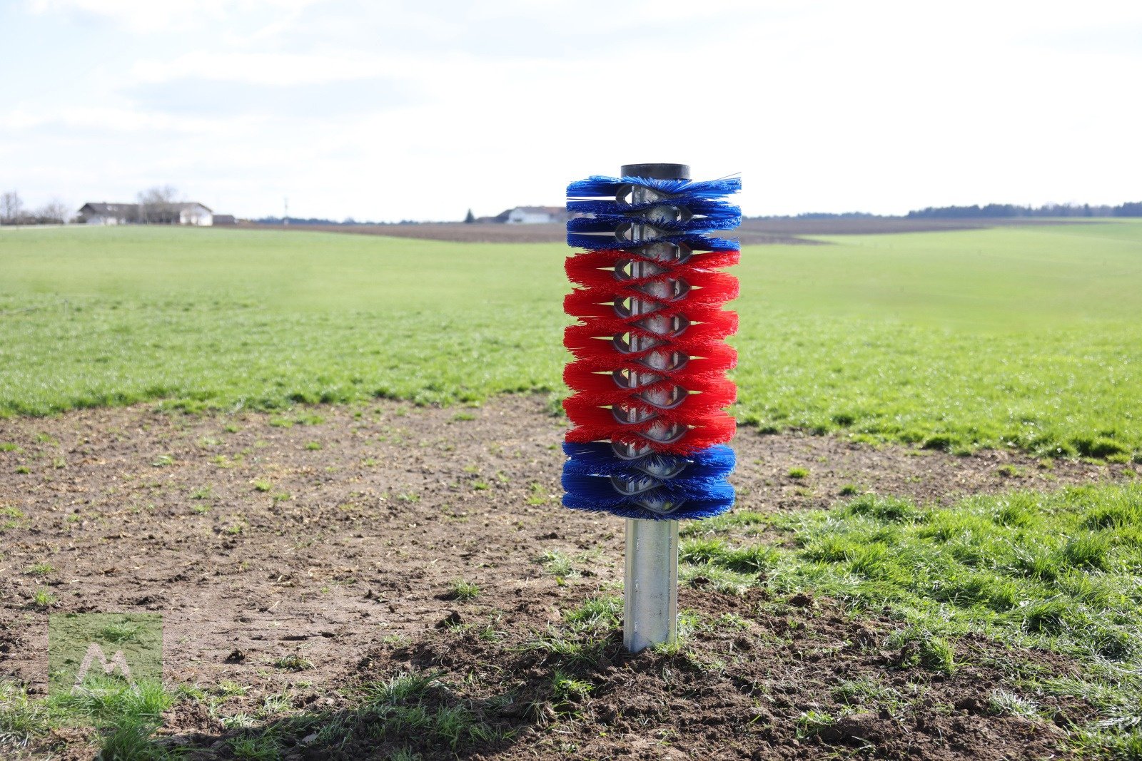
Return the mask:
[(656, 479), (658, 485), (641, 495), (683, 502), (668, 515), (648, 510), (637, 504), (635, 497), (614, 488), (611, 476), (638, 478), (645, 477), (645, 472), (633, 467), (633, 461), (616, 456), (609, 444), (564, 444), (563, 452), (570, 458), (563, 468), (563, 504), (574, 510), (609, 512), (624, 518), (679, 520), (721, 515), (733, 507), (733, 487), (725, 478), (733, 470), (734, 454), (725, 445), (711, 446), (686, 458), (648, 455), (687, 462), (677, 476)]

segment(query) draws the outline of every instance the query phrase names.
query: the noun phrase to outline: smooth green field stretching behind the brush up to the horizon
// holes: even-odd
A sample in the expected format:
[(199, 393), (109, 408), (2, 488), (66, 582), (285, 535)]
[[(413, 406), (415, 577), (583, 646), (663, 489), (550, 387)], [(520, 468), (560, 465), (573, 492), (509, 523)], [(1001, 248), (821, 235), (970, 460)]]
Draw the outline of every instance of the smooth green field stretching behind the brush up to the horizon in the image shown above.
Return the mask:
[[(1142, 222), (754, 246), (739, 420), (1142, 461)], [(561, 245), (0, 234), (0, 414), (563, 390)]]

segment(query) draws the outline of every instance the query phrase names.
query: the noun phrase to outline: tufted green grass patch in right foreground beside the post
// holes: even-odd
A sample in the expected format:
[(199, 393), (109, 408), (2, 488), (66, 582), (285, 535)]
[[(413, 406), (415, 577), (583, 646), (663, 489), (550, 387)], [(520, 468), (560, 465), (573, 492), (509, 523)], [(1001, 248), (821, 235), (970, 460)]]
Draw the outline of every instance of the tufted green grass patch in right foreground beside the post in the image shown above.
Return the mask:
[[(785, 541), (751, 541), (770, 532)], [(1069, 727), (1067, 744), (1081, 756), (1142, 759), (1136, 484), (975, 495), (949, 508), (866, 494), (830, 510), (732, 512), (690, 523), (683, 535), (683, 578), (727, 592), (763, 583), (774, 599), (809, 589), (853, 612), (891, 610), (901, 629), (886, 646), (914, 666), (955, 672), (951, 642), (970, 633), (1064, 654), (1080, 670), (1005, 669), (1040, 701), (1063, 696), (1095, 710)], [(1003, 689), (989, 710), (1048, 714)]]

